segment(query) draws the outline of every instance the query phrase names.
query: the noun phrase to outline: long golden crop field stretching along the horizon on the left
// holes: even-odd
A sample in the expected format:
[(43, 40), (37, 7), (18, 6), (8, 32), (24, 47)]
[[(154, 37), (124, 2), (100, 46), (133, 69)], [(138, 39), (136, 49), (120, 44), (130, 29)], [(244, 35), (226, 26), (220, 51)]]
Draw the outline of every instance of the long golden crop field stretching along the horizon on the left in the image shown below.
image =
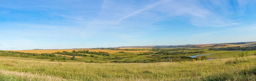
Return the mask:
[[(75, 49), (54, 49), (54, 50), (10, 50), (10, 51), (16, 51), (16, 52), (23, 52), (23, 53), (36, 53), (36, 54), (41, 54), (41, 53), (55, 53), (55, 52), (62, 52), (62, 51), (67, 51), (67, 52), (72, 52)], [(7, 50), (9, 51), (9, 50)], [(78, 51), (78, 50), (75, 50)], [(126, 50), (98, 50), (98, 49), (93, 49), (93, 50), (89, 50), (89, 51), (95, 51), (95, 52), (108, 52), (110, 54), (112, 53), (116, 53), (116, 52), (134, 52), (134, 53), (140, 53), (140, 52), (148, 52), (148, 50), (143, 50), (143, 51), (126, 51)]]

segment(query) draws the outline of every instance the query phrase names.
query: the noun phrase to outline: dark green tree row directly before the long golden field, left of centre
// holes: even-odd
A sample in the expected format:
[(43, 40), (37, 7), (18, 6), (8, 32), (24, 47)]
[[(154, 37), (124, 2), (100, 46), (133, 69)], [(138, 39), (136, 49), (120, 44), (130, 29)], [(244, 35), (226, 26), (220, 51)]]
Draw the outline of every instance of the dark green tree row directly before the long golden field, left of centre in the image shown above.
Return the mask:
[(82, 54), (93, 54), (93, 55), (106, 55), (106, 56), (109, 56), (108, 54), (108, 52), (101, 52), (101, 51), (99, 51), (99, 52), (92, 52), (92, 51), (89, 51), (89, 50), (87, 50), (87, 51), (85, 51), (85, 50), (83, 50), (83, 51), (75, 51), (75, 50), (73, 50), (73, 53), (82, 53)]

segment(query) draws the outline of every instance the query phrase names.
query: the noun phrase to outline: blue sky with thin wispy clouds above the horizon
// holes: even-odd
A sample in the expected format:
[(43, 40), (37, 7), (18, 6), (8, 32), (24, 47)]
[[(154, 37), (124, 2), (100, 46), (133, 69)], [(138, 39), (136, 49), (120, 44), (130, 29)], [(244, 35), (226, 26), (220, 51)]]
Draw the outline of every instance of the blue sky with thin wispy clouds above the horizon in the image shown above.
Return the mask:
[(0, 0), (0, 50), (247, 41), (255, 0)]

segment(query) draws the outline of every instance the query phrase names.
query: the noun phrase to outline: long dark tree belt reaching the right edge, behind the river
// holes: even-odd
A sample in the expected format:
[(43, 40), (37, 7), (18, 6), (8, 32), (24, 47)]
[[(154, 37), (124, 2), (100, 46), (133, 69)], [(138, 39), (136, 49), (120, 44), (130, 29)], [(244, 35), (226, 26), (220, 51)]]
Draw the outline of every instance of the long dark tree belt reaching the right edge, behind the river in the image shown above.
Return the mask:
[(222, 50), (245, 50), (245, 51), (251, 51), (251, 50), (256, 50), (256, 46), (253, 46), (253, 47), (209, 48), (209, 50), (214, 50), (214, 51), (222, 51)]

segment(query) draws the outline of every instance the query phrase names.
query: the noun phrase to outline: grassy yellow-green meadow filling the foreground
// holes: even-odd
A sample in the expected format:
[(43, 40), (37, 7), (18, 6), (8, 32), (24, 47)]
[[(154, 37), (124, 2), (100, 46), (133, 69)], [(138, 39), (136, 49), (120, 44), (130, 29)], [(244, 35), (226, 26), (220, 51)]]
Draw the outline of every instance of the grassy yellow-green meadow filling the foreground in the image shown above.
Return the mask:
[(72, 63), (0, 58), (0, 80), (255, 81), (256, 56), (160, 63)]

